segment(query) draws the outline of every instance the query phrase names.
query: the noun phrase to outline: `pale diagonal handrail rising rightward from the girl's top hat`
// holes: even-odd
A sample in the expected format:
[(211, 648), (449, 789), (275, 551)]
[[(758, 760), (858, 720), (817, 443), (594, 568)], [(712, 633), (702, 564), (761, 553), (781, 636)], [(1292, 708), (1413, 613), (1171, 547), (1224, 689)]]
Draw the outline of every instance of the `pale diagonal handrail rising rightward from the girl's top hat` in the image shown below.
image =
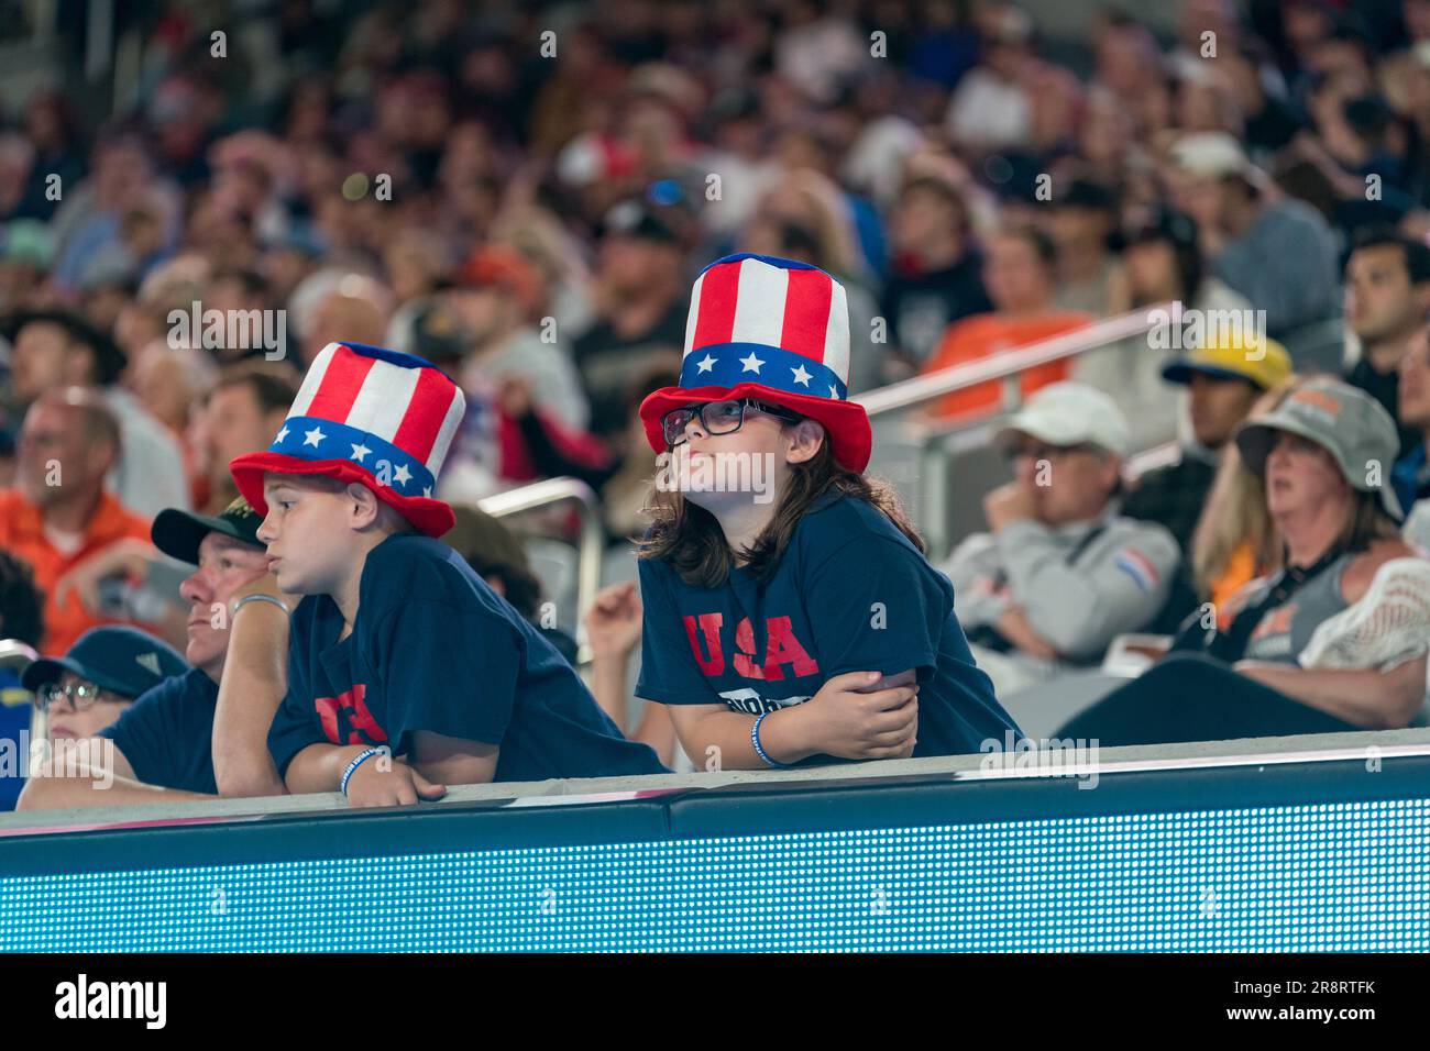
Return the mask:
[(1060, 362), (1065, 357), (1077, 357), (1088, 350), (1097, 350), (1110, 343), (1151, 332), (1165, 323), (1164, 317), (1158, 317), (1158, 313), (1165, 313), (1170, 307), (1170, 303), (1163, 303), (1160, 306), (1128, 310), (1127, 313), (1107, 317), (1083, 329), (1041, 339), (1037, 343), (1028, 343), (1011, 350), (1000, 350), (997, 355), (977, 362), (951, 365), (927, 376), (915, 376), (898, 383), (889, 383), (877, 390), (854, 395), (849, 400), (862, 405), (865, 412), (872, 418), (908, 409), (909, 406), (921, 405), (954, 390), (965, 390), (988, 380), (1017, 380), (1024, 369)]

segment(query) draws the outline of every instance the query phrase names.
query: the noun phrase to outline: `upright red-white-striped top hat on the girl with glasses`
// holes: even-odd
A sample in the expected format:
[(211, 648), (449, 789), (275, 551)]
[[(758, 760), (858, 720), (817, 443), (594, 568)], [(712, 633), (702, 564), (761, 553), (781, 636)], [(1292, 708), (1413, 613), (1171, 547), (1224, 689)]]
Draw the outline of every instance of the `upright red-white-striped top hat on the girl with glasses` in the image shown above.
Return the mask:
[(661, 418), (671, 409), (755, 398), (822, 423), (839, 465), (864, 470), (872, 433), (848, 380), (844, 286), (817, 266), (746, 252), (695, 279), (681, 383), (641, 402), (641, 422), (651, 448), (665, 452)]

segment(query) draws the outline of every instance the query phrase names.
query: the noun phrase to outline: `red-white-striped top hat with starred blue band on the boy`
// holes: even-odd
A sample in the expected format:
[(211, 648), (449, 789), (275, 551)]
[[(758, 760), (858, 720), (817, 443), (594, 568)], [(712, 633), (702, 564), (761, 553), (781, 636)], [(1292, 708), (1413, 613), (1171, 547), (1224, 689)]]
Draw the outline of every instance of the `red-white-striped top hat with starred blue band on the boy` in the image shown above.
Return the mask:
[(323, 475), (359, 482), (419, 532), (440, 536), (452, 508), (432, 499), (466, 399), (420, 357), (363, 343), (329, 343), (313, 360), (267, 452), (229, 463), (260, 515), (263, 475)]

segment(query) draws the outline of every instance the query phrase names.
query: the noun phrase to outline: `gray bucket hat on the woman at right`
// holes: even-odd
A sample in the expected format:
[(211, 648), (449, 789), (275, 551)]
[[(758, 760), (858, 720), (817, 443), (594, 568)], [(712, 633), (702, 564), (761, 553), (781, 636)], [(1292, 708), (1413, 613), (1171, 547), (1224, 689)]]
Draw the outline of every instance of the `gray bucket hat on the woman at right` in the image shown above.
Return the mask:
[[(1257, 475), (1266, 473), (1266, 458), (1276, 432), (1300, 435), (1323, 446), (1351, 489), (1379, 492), (1380, 502), (1396, 519), (1403, 518), (1400, 500), (1390, 486), (1390, 468), (1400, 452), (1396, 422), (1374, 398), (1338, 379), (1310, 379), (1293, 390), (1271, 412), (1248, 419), (1237, 430), (1241, 459)], [(1370, 483), (1370, 468), (1379, 465), (1379, 486)]]

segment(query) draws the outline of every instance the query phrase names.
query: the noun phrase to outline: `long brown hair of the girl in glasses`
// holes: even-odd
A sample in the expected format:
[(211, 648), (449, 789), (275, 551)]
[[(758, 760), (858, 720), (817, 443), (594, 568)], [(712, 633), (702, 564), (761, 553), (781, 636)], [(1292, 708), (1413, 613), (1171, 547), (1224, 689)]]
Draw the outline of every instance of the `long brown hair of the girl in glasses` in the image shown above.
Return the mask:
[[(769, 525), (744, 552), (749, 569), (761, 583), (768, 581), (784, 558), (795, 526), (811, 505), (827, 492), (837, 492), (865, 500), (879, 510), (914, 543), (925, 552), (924, 538), (908, 520), (894, 488), (887, 482), (849, 470), (834, 459), (828, 438), (818, 452), (804, 463), (789, 465), (789, 480), (779, 495)], [(652, 526), (645, 539), (636, 539), (639, 558), (656, 558), (671, 563), (685, 583), (694, 588), (719, 588), (729, 579), (735, 552), (725, 541), (715, 516), (678, 492), (661, 492), (652, 486), (648, 500)]]

